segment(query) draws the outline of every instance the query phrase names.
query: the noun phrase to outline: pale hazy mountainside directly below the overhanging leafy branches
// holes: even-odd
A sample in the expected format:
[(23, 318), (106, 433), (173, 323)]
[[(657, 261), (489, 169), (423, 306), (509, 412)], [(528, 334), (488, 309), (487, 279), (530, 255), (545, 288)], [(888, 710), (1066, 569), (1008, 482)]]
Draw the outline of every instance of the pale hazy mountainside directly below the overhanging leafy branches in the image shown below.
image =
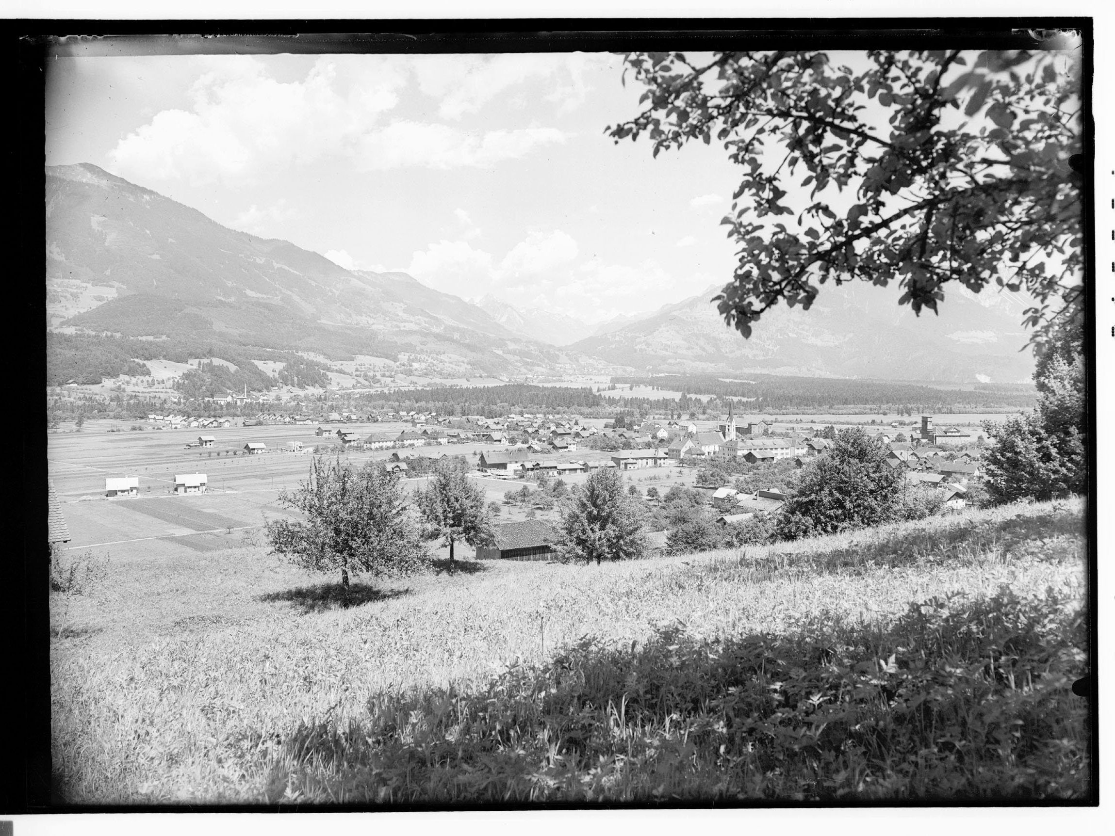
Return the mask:
[(825, 286), (808, 311), (779, 305), (744, 340), (709, 301), (718, 291), (709, 286), (570, 348), (656, 372), (1021, 382), (1034, 370), (1019, 324), (1022, 305), (1007, 293), (950, 289), (939, 317), (914, 317), (896, 304), (896, 289)]

